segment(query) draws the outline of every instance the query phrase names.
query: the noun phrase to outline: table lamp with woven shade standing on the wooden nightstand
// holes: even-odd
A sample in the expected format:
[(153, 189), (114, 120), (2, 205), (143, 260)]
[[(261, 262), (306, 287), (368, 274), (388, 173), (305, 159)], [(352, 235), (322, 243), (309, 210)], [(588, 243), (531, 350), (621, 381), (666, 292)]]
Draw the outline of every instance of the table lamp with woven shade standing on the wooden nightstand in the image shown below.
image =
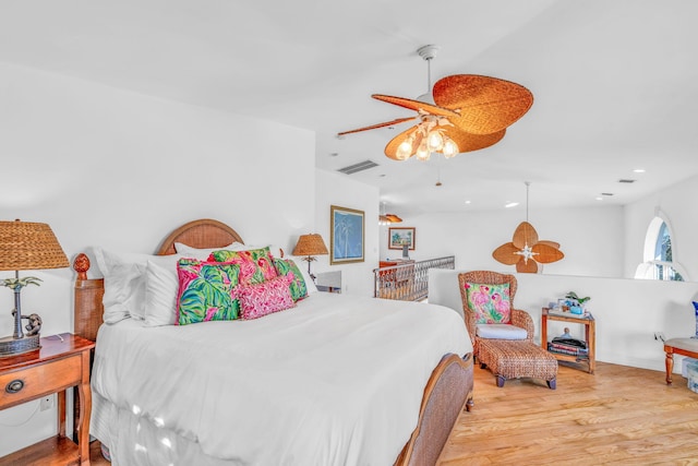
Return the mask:
[[(39, 347), (41, 318), (36, 313), (22, 314), (22, 288), (39, 285), (37, 277), (20, 278), (20, 271), (68, 267), (70, 263), (56, 235), (47, 224), (31, 222), (0, 222), (0, 271), (14, 271), (14, 278), (0, 284), (14, 292), (14, 333), (0, 338), (0, 357), (27, 353)], [(22, 320), (28, 320), (27, 334), (22, 331)]]

